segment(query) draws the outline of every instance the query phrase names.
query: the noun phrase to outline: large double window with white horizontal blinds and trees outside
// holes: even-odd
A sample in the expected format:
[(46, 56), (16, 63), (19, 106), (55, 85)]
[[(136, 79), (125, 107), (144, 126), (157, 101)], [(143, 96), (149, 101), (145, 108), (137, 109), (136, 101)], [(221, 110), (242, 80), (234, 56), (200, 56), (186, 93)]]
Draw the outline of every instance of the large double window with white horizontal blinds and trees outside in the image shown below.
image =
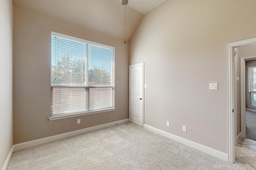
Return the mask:
[(113, 110), (114, 47), (51, 35), (51, 117)]

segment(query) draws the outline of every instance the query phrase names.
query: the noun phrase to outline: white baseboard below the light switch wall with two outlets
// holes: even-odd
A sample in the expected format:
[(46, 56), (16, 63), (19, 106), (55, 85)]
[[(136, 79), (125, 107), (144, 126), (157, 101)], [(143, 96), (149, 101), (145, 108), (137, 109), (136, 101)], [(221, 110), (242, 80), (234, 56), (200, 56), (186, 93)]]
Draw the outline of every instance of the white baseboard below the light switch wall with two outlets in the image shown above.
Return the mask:
[(212, 149), (212, 148), (210, 148), (210, 147), (206, 147), (206, 146), (201, 145), (201, 144), (199, 144), (199, 143), (195, 143), (195, 142), (190, 141), (190, 140), (188, 140), (188, 139), (185, 139), (185, 138), (182, 138), (182, 137), (173, 135), (173, 134), (171, 134), (171, 133), (168, 133), (168, 132), (166, 132), (166, 131), (162, 131), (162, 130), (160, 130), (160, 129), (157, 129), (157, 128), (155, 128), (155, 127), (152, 127), (152, 126), (149, 126), (149, 125), (146, 125), (146, 124), (144, 124), (144, 128), (145, 128), (145, 129), (148, 129), (148, 130), (150, 130), (150, 131), (153, 131), (153, 132), (155, 132), (155, 133), (158, 133), (158, 134), (160, 134), (160, 135), (163, 135), (163, 136), (165, 136), (165, 137), (168, 137), (168, 138), (170, 138), (170, 139), (172, 139), (172, 140), (174, 140), (174, 141), (178, 141), (178, 142), (180, 142), (180, 143), (183, 143), (183, 144), (185, 144), (185, 145), (188, 145), (189, 147), (192, 147), (192, 148), (194, 148), (194, 149), (198, 149), (198, 150), (200, 150), (200, 151), (202, 151), (202, 152), (205, 152), (205, 153), (207, 153), (207, 154), (210, 154), (210, 155), (215, 156), (215, 157), (217, 157), (217, 158), (220, 158), (220, 159), (222, 159), (222, 160), (228, 161), (228, 154), (226, 154), (226, 153), (224, 153), (224, 152), (220, 152), (220, 151), (218, 151), (218, 150), (216, 150), (216, 149)]

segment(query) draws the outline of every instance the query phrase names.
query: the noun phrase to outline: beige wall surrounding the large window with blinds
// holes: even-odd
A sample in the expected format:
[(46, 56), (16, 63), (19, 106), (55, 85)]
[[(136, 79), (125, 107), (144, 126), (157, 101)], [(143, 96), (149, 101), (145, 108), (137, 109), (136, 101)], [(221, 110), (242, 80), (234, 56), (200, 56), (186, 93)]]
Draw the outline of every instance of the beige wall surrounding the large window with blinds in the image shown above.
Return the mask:
[[(116, 111), (48, 120), (51, 31), (115, 47)], [(122, 39), (14, 6), (14, 144), (128, 118), (128, 47)]]

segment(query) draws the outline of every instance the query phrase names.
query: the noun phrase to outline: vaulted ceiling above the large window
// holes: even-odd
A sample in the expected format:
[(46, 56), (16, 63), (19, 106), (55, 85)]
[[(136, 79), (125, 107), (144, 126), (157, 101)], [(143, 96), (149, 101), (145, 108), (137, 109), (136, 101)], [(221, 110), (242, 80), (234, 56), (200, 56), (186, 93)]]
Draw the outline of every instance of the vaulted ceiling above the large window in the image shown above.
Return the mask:
[[(129, 0), (126, 6), (126, 40), (134, 33), (143, 14), (164, 1)], [(124, 39), (122, 0), (13, 0), (13, 4)]]

